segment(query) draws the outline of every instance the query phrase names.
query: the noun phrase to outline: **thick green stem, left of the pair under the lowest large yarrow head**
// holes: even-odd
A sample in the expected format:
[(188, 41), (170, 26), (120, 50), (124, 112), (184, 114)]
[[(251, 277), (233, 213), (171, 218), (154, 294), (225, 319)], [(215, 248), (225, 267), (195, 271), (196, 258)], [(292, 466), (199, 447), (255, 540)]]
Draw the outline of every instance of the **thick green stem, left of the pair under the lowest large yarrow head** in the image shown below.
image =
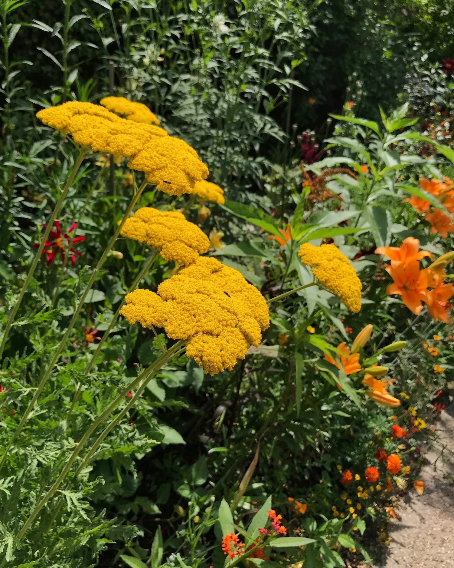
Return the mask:
[[(184, 344), (184, 340), (180, 339), (179, 341), (177, 341), (175, 343), (175, 345), (171, 346), (170, 349), (167, 349), (167, 351), (165, 353), (163, 353), (160, 357), (158, 357), (156, 361), (154, 361), (147, 369), (145, 369), (145, 371), (143, 371), (143, 373), (141, 373), (136, 379), (134, 379), (134, 381), (130, 385), (128, 385), (123, 391), (121, 391), (121, 393), (117, 396), (117, 398), (115, 400), (113, 400), (113, 402), (106, 408), (106, 410), (104, 410), (104, 412), (102, 412), (102, 414), (100, 414), (98, 416), (98, 418), (96, 418), (96, 420), (93, 421), (93, 423), (87, 429), (85, 434), (82, 436), (81, 440), (75, 446), (73, 453), (68, 458), (68, 461), (66, 462), (66, 464), (65, 464), (64, 468), (62, 469), (60, 475), (58, 475), (58, 478), (56, 479), (56, 481), (53, 483), (52, 487), (44, 495), (44, 497), (41, 498), (39, 503), (37, 503), (35, 509), (33, 509), (32, 513), (31, 513), (30, 517), (28, 517), (28, 519), (24, 523), (22, 529), (20, 529), (19, 533), (17, 534), (17, 536), (15, 538), (16, 542), (20, 541), (24, 537), (24, 535), (26, 534), (26, 532), (30, 528), (30, 525), (33, 523), (33, 521), (39, 515), (39, 512), (41, 511), (41, 509), (45, 506), (45, 504), (49, 501), (49, 499), (52, 499), (52, 497), (55, 495), (55, 493), (58, 490), (58, 487), (60, 487), (62, 481), (64, 481), (64, 479), (65, 479), (66, 475), (69, 473), (74, 461), (77, 460), (77, 457), (82, 452), (86, 442), (89, 440), (90, 436), (93, 434), (93, 432), (96, 430), (96, 428), (98, 428), (98, 426), (100, 424), (102, 424), (103, 421), (106, 420), (111, 415), (111, 413), (115, 410), (115, 408), (117, 408), (117, 406), (119, 406), (121, 401), (124, 400), (125, 396), (127, 396), (128, 392), (131, 389), (134, 389), (136, 386), (141, 385), (141, 387), (138, 389), (138, 392), (140, 394), (140, 392), (145, 388), (146, 383), (148, 383), (148, 381), (151, 378), (154, 377), (154, 375), (158, 372), (158, 370), (161, 369), (161, 367), (174, 356), (174, 354), (179, 350), (179, 348), (183, 344)], [(137, 393), (136, 393), (136, 395), (137, 395)], [(115, 416), (111, 420), (110, 424), (108, 424), (107, 428), (109, 428), (111, 424), (115, 425), (117, 423), (117, 419), (118, 419), (118, 416)], [(113, 426), (112, 426), (112, 428), (113, 428)], [(98, 438), (98, 440), (99, 440), (99, 438)], [(101, 442), (99, 442), (99, 443), (101, 443)]]

